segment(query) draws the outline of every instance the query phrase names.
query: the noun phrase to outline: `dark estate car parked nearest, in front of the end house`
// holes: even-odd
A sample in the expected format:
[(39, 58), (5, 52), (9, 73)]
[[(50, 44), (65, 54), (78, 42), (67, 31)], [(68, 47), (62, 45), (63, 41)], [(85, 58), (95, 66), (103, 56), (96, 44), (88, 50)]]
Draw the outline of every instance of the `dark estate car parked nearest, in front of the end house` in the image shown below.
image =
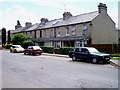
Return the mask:
[(73, 48), (69, 51), (69, 57), (72, 60), (83, 59), (83, 60), (91, 60), (92, 63), (108, 62), (110, 60), (110, 55), (101, 53), (94, 47), (81, 47), (81, 48)]

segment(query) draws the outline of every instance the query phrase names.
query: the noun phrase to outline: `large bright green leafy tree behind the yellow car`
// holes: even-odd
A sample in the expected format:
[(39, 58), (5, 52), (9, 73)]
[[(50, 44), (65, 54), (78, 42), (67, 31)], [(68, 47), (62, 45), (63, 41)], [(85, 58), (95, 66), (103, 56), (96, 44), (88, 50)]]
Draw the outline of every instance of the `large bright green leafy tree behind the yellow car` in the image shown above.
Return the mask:
[(12, 43), (16, 45), (22, 45), (25, 40), (29, 38), (22, 33), (14, 34), (12, 37)]

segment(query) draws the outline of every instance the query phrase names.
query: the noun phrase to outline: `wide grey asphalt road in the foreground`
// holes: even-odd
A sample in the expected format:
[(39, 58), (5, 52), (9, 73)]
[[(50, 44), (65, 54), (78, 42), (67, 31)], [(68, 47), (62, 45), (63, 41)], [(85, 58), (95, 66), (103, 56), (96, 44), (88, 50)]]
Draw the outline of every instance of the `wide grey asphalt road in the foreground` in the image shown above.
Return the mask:
[(3, 88), (118, 88), (118, 69), (70, 58), (2, 51)]

